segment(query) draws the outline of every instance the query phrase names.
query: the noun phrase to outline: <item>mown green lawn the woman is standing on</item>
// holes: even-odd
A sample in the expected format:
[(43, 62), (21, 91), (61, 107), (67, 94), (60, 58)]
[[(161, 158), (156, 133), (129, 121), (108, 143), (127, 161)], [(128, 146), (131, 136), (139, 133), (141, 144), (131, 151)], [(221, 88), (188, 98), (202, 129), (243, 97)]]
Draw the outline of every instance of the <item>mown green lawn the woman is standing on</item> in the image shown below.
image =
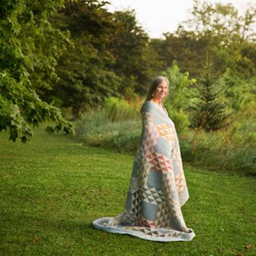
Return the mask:
[[(95, 230), (124, 210), (133, 157), (36, 129), (31, 143), (0, 133), (0, 255), (256, 255), (253, 177), (185, 166), (191, 242)], [(252, 249), (245, 246), (252, 245)]]

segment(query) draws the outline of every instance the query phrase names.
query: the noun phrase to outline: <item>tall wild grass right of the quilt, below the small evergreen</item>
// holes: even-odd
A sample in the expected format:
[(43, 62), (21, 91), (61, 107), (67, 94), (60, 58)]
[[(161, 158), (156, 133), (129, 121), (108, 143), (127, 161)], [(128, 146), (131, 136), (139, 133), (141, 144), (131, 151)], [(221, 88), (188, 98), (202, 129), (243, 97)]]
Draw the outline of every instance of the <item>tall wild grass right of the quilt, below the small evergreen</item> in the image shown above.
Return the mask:
[(205, 132), (197, 129), (180, 138), (182, 156), (195, 166), (256, 175), (256, 133), (243, 131), (235, 121), (229, 129)]

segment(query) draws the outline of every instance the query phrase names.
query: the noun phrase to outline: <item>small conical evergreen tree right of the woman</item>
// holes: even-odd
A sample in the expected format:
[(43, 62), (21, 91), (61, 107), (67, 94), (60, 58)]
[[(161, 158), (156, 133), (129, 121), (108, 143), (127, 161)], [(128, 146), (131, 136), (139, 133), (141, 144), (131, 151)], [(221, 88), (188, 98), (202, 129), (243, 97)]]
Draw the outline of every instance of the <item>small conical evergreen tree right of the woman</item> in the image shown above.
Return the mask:
[(225, 127), (231, 113), (227, 113), (227, 103), (221, 102), (218, 79), (211, 73), (208, 63), (195, 86), (198, 100), (191, 106), (193, 127), (201, 127), (207, 132)]

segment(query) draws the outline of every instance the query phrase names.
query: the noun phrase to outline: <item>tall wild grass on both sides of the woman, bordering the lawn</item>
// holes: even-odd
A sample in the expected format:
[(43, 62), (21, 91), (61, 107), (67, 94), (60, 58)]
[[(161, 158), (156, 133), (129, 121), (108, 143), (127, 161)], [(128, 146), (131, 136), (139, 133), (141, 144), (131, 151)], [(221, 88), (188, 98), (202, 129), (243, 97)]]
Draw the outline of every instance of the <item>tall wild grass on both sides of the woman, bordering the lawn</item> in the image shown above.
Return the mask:
[[(110, 99), (104, 108), (82, 116), (77, 124), (78, 139), (134, 154), (141, 134), (139, 110), (122, 100)], [(178, 132), (182, 159), (217, 171), (256, 175), (255, 117), (255, 107), (251, 107), (238, 113), (227, 129)]]

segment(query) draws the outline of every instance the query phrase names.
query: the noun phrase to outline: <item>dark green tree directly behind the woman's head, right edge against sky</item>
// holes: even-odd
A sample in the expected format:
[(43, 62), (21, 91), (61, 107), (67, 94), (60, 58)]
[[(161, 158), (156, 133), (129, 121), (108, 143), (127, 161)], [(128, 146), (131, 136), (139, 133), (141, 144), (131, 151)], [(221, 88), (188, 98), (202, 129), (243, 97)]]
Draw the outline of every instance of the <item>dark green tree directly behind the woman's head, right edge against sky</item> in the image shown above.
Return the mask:
[(114, 13), (115, 32), (111, 51), (115, 57), (113, 71), (121, 77), (120, 93), (129, 90), (146, 93), (152, 77), (157, 74), (157, 55), (149, 46), (149, 35), (138, 24), (134, 10)]

